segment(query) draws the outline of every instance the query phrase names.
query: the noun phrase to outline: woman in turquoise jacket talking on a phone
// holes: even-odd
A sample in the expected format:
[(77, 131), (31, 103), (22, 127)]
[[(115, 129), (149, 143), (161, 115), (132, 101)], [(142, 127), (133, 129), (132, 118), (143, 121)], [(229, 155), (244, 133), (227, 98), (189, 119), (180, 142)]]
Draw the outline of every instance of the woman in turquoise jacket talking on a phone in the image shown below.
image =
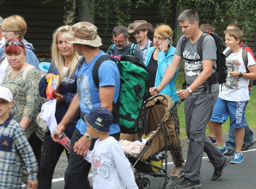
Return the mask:
[[(168, 67), (168, 65), (171, 64), (175, 52), (175, 48), (171, 45), (171, 37), (172, 29), (168, 25), (160, 24), (154, 29), (154, 47), (148, 49), (145, 60), (145, 64), (150, 74), (150, 78), (148, 79), (149, 87), (158, 87), (158, 85), (161, 83), (163, 79), (163, 75), (164, 72), (166, 71), (166, 68)], [(166, 43), (166, 41), (168, 40), (170, 40), (169, 44)], [(175, 79), (177, 77), (177, 74), (178, 70), (176, 71), (175, 76), (170, 81), (170, 83), (167, 84), (166, 87), (161, 92), (161, 94), (169, 95), (172, 101), (174, 102), (179, 100), (177, 94), (175, 94)], [(148, 98), (150, 96), (151, 95), (149, 94)], [(177, 109), (175, 110), (173, 117), (175, 124), (175, 132), (178, 140), (178, 146), (170, 150), (175, 167), (173, 168), (169, 177), (172, 179), (176, 179), (184, 175), (185, 167), (183, 165), (184, 160), (182, 157), (181, 141), (179, 140), (179, 118)]]

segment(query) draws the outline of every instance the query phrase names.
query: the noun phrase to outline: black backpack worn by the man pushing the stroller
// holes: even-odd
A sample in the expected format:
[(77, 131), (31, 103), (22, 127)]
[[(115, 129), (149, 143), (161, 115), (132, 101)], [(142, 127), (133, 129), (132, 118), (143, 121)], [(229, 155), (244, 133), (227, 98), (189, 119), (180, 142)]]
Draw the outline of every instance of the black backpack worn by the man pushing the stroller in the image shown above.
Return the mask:
[[(204, 89), (203, 92), (207, 91), (207, 87), (208, 85), (210, 85), (210, 89), (209, 92), (211, 93), (211, 85), (215, 84), (215, 83), (219, 83), (219, 84), (223, 84), (226, 82), (226, 77), (228, 75), (228, 68), (226, 67), (226, 57), (225, 55), (222, 53), (222, 51), (224, 50), (224, 48), (226, 47), (226, 45), (224, 44), (224, 41), (216, 34), (210, 31), (202, 31), (203, 34), (200, 36), (199, 40), (198, 40), (198, 45), (197, 45), (197, 52), (198, 55), (200, 56), (200, 59), (196, 59), (196, 60), (191, 60), (191, 59), (186, 59), (183, 57), (184, 60), (189, 61), (188, 63), (194, 61), (202, 61), (203, 60), (203, 55), (202, 55), (202, 44), (203, 44), (203, 39), (205, 38), (205, 36), (207, 35), (211, 35), (215, 41), (216, 47), (217, 47), (217, 51), (216, 51), (216, 55), (217, 55), (217, 60), (216, 60), (216, 72), (214, 72), (209, 79), (207, 79), (207, 81), (204, 84)], [(205, 34), (204, 34), (205, 33)], [(183, 40), (182, 40), (182, 51), (184, 51), (185, 45), (187, 42), (187, 38), (184, 36)], [(183, 89), (186, 86), (186, 79), (185, 79), (185, 83), (183, 84)]]

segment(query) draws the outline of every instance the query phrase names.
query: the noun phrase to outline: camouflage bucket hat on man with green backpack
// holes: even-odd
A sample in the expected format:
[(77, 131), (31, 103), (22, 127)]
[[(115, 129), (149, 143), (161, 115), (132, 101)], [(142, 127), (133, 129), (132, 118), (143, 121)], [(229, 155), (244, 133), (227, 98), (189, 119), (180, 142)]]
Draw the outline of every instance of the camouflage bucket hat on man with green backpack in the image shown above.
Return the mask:
[(72, 26), (72, 31), (62, 35), (65, 41), (100, 47), (101, 38), (97, 35), (97, 27), (89, 22), (79, 22)]

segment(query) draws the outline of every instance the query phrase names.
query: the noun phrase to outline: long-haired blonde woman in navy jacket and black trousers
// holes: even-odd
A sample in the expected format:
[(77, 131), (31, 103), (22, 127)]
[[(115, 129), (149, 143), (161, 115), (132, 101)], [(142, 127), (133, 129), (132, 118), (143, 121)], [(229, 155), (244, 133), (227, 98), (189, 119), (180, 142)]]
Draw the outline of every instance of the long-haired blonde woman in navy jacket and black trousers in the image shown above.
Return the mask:
[[(42, 97), (46, 97), (47, 79), (54, 75), (59, 75), (59, 93), (55, 94), (57, 100), (55, 118), (57, 123), (61, 122), (64, 114), (69, 108), (70, 102), (77, 93), (77, 76), (75, 69), (80, 56), (74, 52), (73, 44), (67, 43), (62, 35), (71, 31), (71, 26), (62, 26), (53, 33), (52, 44), (52, 64), (48, 74), (40, 80), (39, 93)], [(78, 117), (75, 117), (69, 125), (67, 125), (65, 134), (71, 138)], [(51, 139), (50, 132), (45, 133), (43, 141), (42, 159), (39, 170), (38, 189), (51, 188), (51, 180), (55, 166), (63, 152), (64, 147), (61, 144), (55, 143)], [(67, 158), (69, 153), (65, 149)]]

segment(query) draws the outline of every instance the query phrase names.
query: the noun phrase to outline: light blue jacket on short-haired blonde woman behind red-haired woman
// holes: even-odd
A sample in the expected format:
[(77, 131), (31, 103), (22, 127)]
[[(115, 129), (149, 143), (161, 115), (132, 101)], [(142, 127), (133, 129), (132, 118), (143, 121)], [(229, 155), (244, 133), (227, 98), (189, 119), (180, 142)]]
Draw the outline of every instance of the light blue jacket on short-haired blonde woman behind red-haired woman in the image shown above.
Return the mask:
[[(25, 45), (25, 50), (26, 50), (26, 62), (28, 64), (31, 64), (32, 66), (36, 67), (36, 69), (39, 70), (39, 61), (37, 57), (35, 56), (35, 48), (31, 43), (28, 43), (25, 39), (22, 40), (22, 43)], [(5, 45), (1, 47), (0, 49), (0, 58), (4, 55), (5, 53)]]

